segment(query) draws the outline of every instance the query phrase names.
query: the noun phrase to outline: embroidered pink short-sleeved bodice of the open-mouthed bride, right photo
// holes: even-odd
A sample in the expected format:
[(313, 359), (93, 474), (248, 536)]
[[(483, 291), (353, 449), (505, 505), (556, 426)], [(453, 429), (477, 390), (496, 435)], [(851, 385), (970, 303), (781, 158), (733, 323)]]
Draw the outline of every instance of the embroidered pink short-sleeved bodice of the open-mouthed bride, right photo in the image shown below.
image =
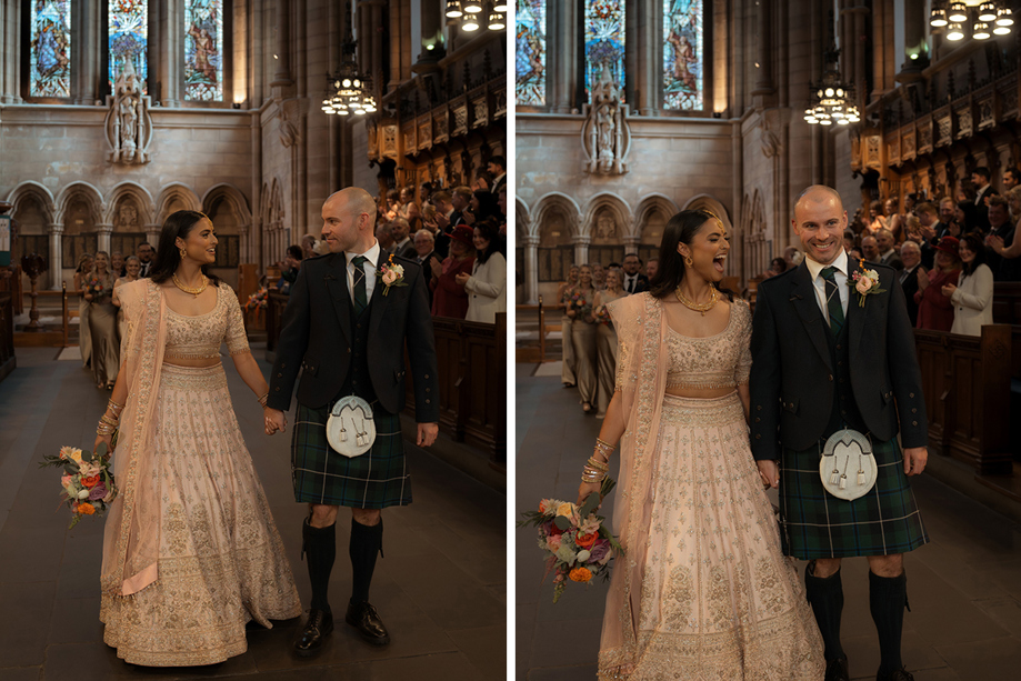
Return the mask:
[(737, 388), (751, 370), (751, 310), (743, 300), (730, 307), (727, 328), (715, 336), (689, 338), (667, 328), (667, 389)]

